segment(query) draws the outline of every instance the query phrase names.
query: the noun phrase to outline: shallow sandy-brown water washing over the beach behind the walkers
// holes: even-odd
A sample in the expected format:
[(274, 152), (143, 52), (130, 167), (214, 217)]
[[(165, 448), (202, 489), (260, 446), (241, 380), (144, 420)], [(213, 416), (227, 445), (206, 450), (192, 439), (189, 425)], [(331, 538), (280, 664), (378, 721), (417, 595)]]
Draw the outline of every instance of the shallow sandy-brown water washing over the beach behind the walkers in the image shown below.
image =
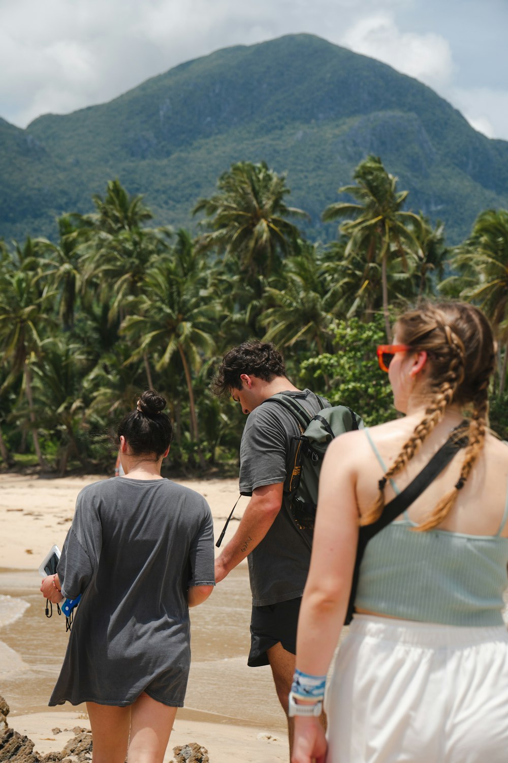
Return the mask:
[[(5, 616), (0, 629), (0, 694), (13, 715), (47, 710), (68, 641), (65, 617), (58, 617), (56, 607), (53, 617), (46, 618), (39, 586), (37, 572), (0, 570)], [(192, 662), (185, 708), (179, 716), (286, 729), (270, 668), (247, 665), (251, 642), (247, 568), (232, 571), (205, 604), (190, 610), (190, 619)]]

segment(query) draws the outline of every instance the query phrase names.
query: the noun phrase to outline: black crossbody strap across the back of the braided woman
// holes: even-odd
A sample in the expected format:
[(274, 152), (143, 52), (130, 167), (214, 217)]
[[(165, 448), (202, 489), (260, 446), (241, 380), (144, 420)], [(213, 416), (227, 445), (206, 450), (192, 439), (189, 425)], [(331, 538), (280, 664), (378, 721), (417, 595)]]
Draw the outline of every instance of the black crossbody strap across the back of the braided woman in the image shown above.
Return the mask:
[(455, 453), (461, 448), (464, 448), (468, 444), (468, 436), (459, 437), (457, 430), (461, 430), (464, 427), (468, 427), (468, 421), (462, 421), (449, 439), (446, 440), (443, 446), (433, 455), (427, 466), (423, 469), (413, 481), (407, 485), (404, 490), (393, 498), (383, 509), (383, 513), (379, 520), (372, 522), (372, 524), (360, 527), (358, 535), (358, 546), (356, 548), (356, 559), (353, 570), (353, 581), (351, 583), (350, 600), (347, 605), (346, 620), (344, 623), (349, 625), (353, 620), (354, 601), (356, 599), (356, 590), (358, 588), (359, 568), (362, 563), (363, 554), (365, 552), (367, 543), (375, 535), (384, 530), (391, 522), (397, 519), (403, 511), (405, 511), (411, 504), (416, 501), (417, 497), (423, 493), (425, 488), (428, 488), (430, 483), (443, 472), (443, 469), (452, 460)]

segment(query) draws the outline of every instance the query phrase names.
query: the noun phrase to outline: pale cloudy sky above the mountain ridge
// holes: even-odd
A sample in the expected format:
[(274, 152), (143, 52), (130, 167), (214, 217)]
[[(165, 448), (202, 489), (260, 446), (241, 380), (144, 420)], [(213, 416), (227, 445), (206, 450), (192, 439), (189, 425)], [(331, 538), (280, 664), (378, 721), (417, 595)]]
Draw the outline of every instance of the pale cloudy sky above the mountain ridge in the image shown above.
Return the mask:
[(0, 116), (25, 127), (213, 50), (297, 32), (420, 79), (508, 140), (508, 0), (0, 0)]

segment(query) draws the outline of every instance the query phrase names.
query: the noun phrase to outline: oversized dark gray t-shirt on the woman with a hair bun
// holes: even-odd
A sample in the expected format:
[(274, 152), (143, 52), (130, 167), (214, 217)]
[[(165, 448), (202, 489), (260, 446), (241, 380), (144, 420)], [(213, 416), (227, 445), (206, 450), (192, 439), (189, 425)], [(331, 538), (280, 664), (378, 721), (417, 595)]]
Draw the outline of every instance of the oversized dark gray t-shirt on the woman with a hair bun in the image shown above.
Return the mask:
[(128, 705), (142, 691), (182, 707), (190, 666), (187, 588), (212, 585), (203, 496), (167, 479), (117, 477), (78, 495), (58, 565), (81, 602), (50, 705)]

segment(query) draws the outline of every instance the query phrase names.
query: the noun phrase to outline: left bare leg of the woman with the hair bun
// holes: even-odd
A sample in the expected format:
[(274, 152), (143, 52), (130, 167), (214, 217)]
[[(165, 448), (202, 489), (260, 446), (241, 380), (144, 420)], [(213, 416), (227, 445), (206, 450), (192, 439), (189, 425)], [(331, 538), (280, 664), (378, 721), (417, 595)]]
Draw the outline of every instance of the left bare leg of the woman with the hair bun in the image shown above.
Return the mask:
[(93, 742), (92, 763), (124, 763), (131, 707), (86, 703)]

